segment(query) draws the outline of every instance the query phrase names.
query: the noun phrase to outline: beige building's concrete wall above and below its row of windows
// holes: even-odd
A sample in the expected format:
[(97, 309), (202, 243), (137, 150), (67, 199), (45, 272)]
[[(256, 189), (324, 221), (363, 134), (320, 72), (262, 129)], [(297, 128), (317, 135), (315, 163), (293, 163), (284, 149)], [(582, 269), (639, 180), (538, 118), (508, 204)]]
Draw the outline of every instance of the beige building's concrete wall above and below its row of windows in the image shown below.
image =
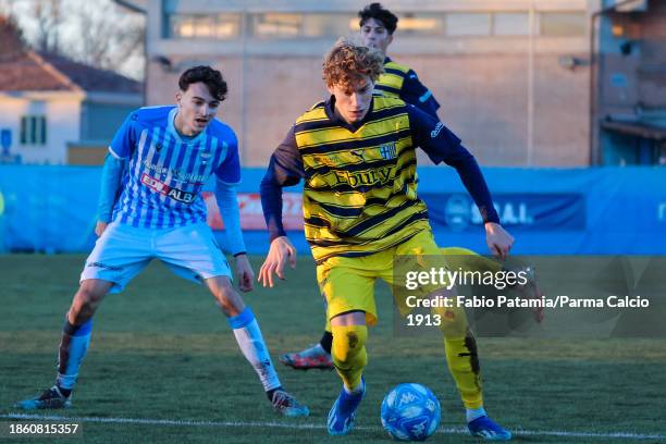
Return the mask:
[[(356, 11), (361, 3), (280, 0), (177, 2), (178, 11)], [(590, 12), (599, 0), (386, 1), (396, 11)], [(325, 97), (323, 53), (331, 39), (169, 39), (162, 35), (162, 3), (149, 1), (147, 103), (172, 103), (177, 75), (199, 63), (220, 69), (230, 96), (220, 118), (242, 144), (244, 165), (266, 165), (294, 120)], [(349, 13), (350, 17), (355, 13)], [(442, 103), (440, 116), (484, 165), (578, 166), (589, 163), (589, 36), (411, 37), (399, 29), (390, 55), (416, 70)], [(530, 53), (532, 54), (530, 58)], [(567, 69), (562, 57), (582, 64)], [(157, 59), (169, 59), (160, 64)], [(424, 156), (422, 157), (424, 158)], [(425, 159), (421, 159), (427, 162)]]

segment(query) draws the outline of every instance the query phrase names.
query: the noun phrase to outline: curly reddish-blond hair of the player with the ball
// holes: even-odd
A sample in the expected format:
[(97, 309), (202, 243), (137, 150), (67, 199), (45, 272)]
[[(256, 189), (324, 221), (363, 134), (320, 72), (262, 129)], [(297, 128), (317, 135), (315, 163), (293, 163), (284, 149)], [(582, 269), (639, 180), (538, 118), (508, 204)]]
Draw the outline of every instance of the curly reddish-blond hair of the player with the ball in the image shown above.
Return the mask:
[(384, 57), (375, 49), (357, 45), (345, 38), (337, 40), (324, 57), (323, 79), (329, 87), (350, 86), (363, 76), (375, 82), (384, 72)]

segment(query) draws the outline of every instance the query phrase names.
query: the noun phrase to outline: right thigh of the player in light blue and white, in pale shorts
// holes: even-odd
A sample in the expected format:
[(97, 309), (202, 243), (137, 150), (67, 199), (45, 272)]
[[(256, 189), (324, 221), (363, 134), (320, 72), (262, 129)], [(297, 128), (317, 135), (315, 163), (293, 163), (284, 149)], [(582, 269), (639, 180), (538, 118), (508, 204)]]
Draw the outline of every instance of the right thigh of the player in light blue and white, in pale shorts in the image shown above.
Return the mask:
[(222, 248), (205, 222), (165, 230), (156, 239), (156, 257), (176, 275), (196, 283), (214, 276), (233, 280)]

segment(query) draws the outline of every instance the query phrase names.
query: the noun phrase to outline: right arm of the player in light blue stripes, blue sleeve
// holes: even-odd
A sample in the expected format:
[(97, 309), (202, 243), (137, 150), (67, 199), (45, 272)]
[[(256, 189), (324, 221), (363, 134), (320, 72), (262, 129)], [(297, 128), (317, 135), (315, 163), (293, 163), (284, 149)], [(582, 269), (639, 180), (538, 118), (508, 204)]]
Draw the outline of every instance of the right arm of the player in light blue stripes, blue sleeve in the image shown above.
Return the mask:
[(236, 259), (236, 274), (238, 289), (249, 292), (255, 286), (255, 272), (247, 259), (247, 250), (240, 230), (240, 211), (238, 209), (238, 195), (236, 186), (240, 182), (240, 159), (238, 157), (238, 143), (230, 143), (224, 161), (215, 170), (215, 200), (220, 208), (220, 215), (224, 221), (224, 231), (229, 249)]

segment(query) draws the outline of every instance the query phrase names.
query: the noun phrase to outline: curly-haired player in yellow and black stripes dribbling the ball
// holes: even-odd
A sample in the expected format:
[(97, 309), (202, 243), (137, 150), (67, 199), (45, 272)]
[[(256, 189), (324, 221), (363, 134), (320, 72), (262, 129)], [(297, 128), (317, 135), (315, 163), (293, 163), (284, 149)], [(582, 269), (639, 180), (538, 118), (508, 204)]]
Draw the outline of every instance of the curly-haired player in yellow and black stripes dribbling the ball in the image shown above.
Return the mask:
[[(332, 355), (343, 388), (329, 433), (346, 434), (365, 393), (367, 325), (377, 322), (374, 282), (393, 282), (396, 255), (437, 255), (425, 205), (417, 195), (416, 147), (454, 166), (484, 219), (486, 242), (505, 256), (514, 242), (502, 229), (477, 161), (444, 124), (400, 99), (373, 96), (382, 55), (341, 40), (324, 59), (331, 97), (297, 119), (271, 157), (261, 201), (271, 236), (259, 272), (263, 285), (283, 278), (296, 250), (282, 224), (282, 187), (305, 181), (305, 234), (333, 330)], [(462, 319), (464, 313), (456, 319)], [(485, 415), (477, 347), (469, 329), (446, 334), (446, 359), (474, 435), (507, 440)]]

